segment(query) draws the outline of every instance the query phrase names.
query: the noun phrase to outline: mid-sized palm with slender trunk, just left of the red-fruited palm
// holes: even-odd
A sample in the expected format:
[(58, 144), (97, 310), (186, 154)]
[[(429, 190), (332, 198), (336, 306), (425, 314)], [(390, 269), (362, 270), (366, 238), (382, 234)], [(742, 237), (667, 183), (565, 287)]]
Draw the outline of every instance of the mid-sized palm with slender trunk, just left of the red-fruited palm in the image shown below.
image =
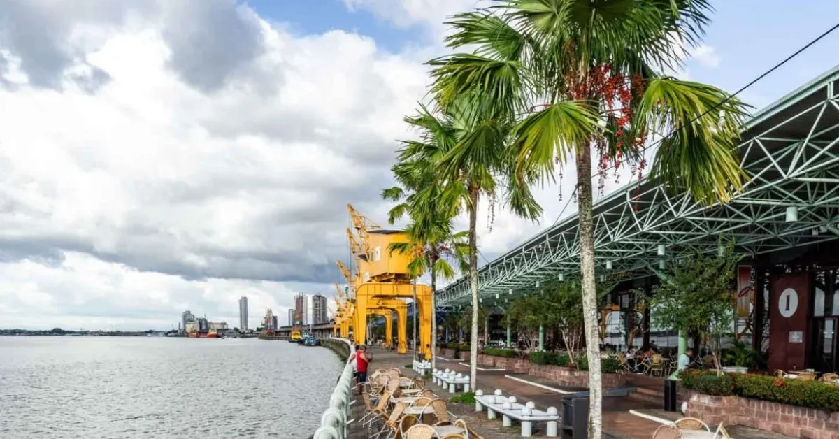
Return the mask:
[[(412, 192), (404, 205), (393, 209), (393, 213), (409, 212), (417, 236), (444, 238), (447, 232), (439, 228), (446, 222), (440, 222), (440, 218), (456, 217), (464, 208), (468, 212), (466, 253), (472, 280), (472, 388), (477, 379), (477, 203), (481, 196), (495, 201), (506, 188), (503, 200), (514, 212), (530, 218), (541, 214), (527, 186), (499, 185), (508, 180), (513, 167), (512, 155), (507, 151), (510, 127), (506, 119), (498, 116), (494, 107), (477, 94), (465, 93), (445, 106), (437, 105), (435, 111), (420, 106), (417, 115), (405, 118), (409, 125), (420, 130), (420, 140), (404, 142), (399, 163), (394, 166), (398, 180), (422, 183), (408, 185), (422, 189)], [(526, 178), (529, 174), (523, 175), (523, 180), (529, 181)]]

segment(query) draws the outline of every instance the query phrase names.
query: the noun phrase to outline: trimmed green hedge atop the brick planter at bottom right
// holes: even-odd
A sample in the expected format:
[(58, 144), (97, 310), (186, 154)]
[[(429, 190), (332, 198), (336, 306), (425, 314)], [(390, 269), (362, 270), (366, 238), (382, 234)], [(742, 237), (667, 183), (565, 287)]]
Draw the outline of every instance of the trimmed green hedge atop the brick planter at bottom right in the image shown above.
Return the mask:
[(688, 370), (679, 374), (685, 388), (706, 395), (739, 395), (810, 409), (839, 411), (839, 386), (821, 381), (769, 375), (724, 374)]

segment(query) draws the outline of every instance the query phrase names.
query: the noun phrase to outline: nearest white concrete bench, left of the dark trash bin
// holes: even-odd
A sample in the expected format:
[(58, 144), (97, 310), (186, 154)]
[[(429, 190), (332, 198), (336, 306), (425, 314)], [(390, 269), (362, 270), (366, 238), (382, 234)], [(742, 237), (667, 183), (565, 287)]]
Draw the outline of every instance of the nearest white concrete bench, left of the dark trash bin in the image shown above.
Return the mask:
[(503, 426), (513, 426), (513, 420), (519, 421), (522, 437), (533, 436), (533, 423), (537, 421), (547, 423), (547, 436), (558, 436), (560, 415), (555, 407), (548, 407), (546, 411), (537, 410), (534, 403), (519, 404), (515, 396), (504, 396), (500, 389), (496, 389), (493, 395), (483, 395), (479, 389), (475, 392), (475, 411), (483, 411), (484, 407), (487, 408), (487, 419), (495, 419), (500, 413)]

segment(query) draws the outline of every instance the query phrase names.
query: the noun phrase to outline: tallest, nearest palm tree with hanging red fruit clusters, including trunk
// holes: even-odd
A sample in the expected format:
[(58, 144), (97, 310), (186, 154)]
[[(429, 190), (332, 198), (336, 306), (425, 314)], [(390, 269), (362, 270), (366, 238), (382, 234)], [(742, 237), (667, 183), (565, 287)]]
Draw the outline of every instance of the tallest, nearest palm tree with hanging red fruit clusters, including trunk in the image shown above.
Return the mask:
[[(680, 66), (682, 47), (700, 40), (707, 0), (487, 3), (449, 22), (449, 46), (474, 51), (431, 60), (432, 91), (443, 106), (464, 93), (491, 99), (513, 125), (519, 186), (534, 172), (550, 180), (556, 163), (574, 157), (586, 351), (599, 358), (592, 148), (601, 176), (629, 161), (640, 178), (644, 145), (659, 138), (654, 178), (698, 202), (726, 202), (743, 188), (735, 146), (745, 107), (713, 86), (665, 75)], [(591, 362), (592, 438), (602, 435), (600, 372)]]

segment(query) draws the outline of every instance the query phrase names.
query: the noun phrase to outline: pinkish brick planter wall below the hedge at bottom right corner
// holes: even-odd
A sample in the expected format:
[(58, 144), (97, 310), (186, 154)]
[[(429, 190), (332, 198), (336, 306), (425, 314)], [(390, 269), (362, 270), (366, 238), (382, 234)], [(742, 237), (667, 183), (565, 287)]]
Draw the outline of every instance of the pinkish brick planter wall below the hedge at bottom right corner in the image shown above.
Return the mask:
[(741, 424), (792, 437), (839, 439), (839, 412), (777, 402), (691, 393), (685, 415), (708, 424)]

